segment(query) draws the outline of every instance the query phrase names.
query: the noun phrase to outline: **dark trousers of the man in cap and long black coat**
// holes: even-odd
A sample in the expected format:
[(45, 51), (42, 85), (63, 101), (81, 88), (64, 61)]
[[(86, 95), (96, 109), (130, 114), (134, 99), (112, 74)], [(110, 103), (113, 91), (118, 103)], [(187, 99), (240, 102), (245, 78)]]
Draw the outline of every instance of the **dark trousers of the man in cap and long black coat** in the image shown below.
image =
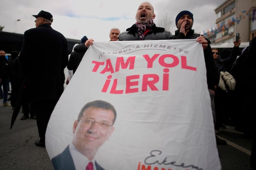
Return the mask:
[(57, 102), (58, 100), (42, 100), (30, 103), (36, 115), (40, 142), (45, 142), (47, 124)]

